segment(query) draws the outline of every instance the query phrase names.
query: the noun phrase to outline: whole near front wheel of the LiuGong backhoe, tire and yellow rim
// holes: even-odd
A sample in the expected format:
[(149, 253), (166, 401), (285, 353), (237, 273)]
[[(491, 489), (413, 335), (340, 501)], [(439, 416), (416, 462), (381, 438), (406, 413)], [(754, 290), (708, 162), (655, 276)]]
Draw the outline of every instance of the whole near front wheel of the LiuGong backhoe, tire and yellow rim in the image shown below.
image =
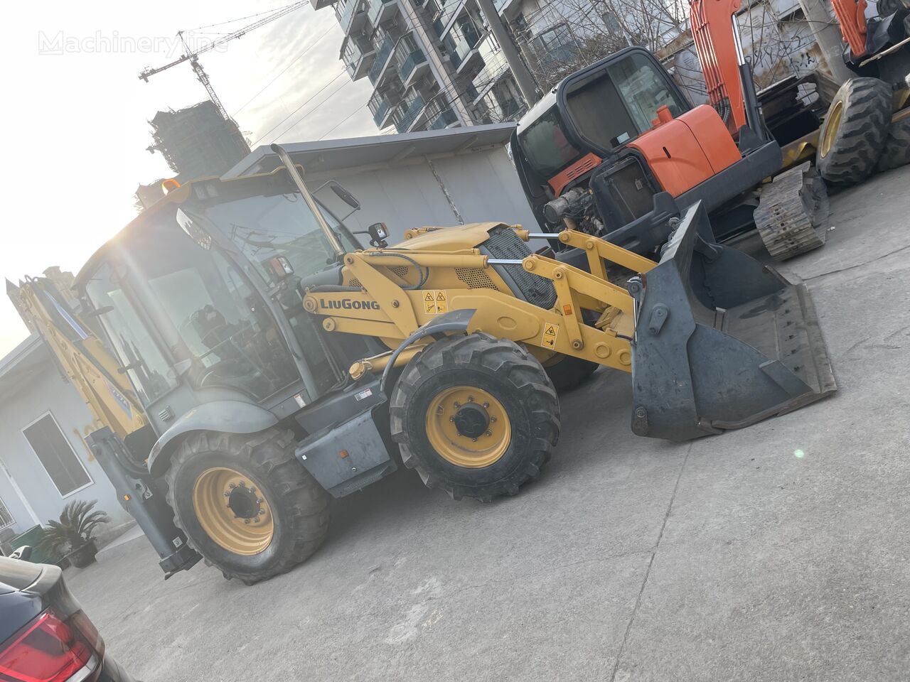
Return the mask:
[(392, 393), (391, 433), (405, 466), (455, 499), (515, 495), (540, 476), (559, 437), (560, 405), (541, 364), (481, 333), (415, 356)]

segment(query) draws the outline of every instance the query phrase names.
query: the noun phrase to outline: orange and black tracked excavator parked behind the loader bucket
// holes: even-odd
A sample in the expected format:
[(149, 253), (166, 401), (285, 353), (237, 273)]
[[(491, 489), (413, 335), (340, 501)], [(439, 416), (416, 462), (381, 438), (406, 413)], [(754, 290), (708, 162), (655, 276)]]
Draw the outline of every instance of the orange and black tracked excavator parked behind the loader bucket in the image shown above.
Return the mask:
[[(778, 260), (824, 244), (824, 183), (808, 162), (777, 175), (781, 143), (743, 54), (739, 7), (691, 5), (710, 105), (690, 104), (654, 55), (628, 47), (567, 76), (521, 118), (511, 150), (541, 227), (568, 226), (653, 256), (667, 221), (702, 201), (709, 241), (757, 227)], [(581, 265), (583, 255), (553, 248)]]

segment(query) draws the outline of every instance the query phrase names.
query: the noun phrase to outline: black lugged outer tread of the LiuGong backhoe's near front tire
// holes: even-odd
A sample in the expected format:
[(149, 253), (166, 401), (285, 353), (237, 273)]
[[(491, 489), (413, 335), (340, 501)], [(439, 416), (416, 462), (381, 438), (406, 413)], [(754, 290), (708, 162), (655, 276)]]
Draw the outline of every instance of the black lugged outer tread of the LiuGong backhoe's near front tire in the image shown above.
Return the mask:
[[(523, 394), (522, 400), (536, 406), (531, 455), (509, 476), (478, 487), (453, 484), (431, 473), (420, 452), (411, 446), (405, 427), (408, 399), (415, 393), (420, 377), (429, 376), (443, 364), (482, 368), (486, 372), (506, 376), (514, 390)], [(454, 499), (474, 497), (481, 502), (490, 502), (494, 497), (518, 494), (522, 485), (541, 475), (541, 469), (550, 460), (552, 448), (559, 439), (559, 399), (541, 364), (521, 346), (481, 332), (440, 339), (415, 356), (392, 392), (389, 416), (391, 435), (399, 444), (402, 464), (416, 470), (425, 486), (445, 490)]]

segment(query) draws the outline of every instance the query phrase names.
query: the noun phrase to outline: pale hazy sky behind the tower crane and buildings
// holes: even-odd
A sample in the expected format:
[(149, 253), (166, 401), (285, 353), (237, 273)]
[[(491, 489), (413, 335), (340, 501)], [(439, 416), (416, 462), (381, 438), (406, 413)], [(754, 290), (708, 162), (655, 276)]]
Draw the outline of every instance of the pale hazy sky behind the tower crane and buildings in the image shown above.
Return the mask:
[[(160, 154), (147, 152), (147, 122), (158, 110), (202, 101), (206, 91), (187, 63), (148, 83), (138, 74), (183, 54), (178, 30), (198, 28), (189, 40), (204, 45), (284, 5), (288, 0), (6, 3), (0, 276), (17, 282), (48, 266), (76, 273), (136, 216), (136, 186), (174, 175)], [(241, 17), (248, 18), (211, 26)], [(199, 62), (228, 114), (257, 145), (378, 135), (367, 108), (369, 81), (354, 83), (347, 74), (332, 80), (343, 68), (342, 37), (330, 7), (314, 11), (307, 4)], [(5, 289), (0, 293), (4, 356), (27, 331)]]

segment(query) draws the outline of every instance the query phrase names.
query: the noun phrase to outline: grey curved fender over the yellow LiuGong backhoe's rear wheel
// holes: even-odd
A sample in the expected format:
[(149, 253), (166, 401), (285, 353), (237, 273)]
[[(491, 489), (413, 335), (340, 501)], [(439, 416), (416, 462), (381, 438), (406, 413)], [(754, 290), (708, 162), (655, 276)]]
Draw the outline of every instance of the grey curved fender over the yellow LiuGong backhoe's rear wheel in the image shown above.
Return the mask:
[(278, 424), (278, 417), (258, 405), (241, 400), (216, 400), (194, 407), (180, 416), (152, 446), (148, 455), (148, 472), (164, 476), (171, 455), (184, 436), (193, 431), (221, 431), (227, 434), (255, 434)]

